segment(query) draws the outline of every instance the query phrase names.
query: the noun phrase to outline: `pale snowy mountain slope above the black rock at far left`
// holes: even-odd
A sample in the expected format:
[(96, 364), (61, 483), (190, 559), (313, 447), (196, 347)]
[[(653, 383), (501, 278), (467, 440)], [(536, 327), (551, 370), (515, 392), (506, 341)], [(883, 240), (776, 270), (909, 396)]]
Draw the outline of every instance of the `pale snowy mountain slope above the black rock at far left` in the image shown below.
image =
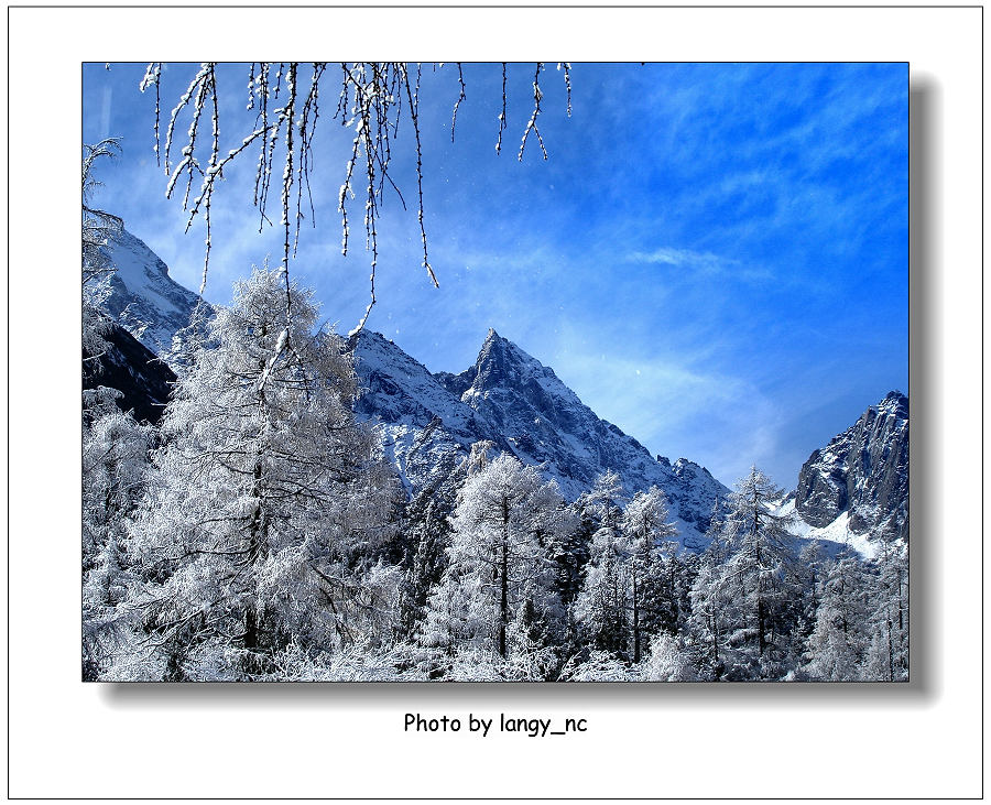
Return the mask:
[(117, 269), (107, 313), (155, 355), (168, 352), (199, 296), (168, 276), (162, 259), (127, 229), (111, 233), (101, 249)]

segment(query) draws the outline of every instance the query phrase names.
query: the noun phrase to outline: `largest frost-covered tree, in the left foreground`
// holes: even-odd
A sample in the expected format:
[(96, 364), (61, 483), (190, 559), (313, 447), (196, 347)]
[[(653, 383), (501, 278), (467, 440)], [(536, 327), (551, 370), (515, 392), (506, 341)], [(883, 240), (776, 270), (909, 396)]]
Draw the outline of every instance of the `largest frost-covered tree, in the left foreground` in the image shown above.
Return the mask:
[(161, 584), (133, 605), (174, 676), (251, 676), (292, 639), (352, 642), (382, 606), (359, 574), (394, 527), (394, 487), (353, 420), (345, 342), (316, 314), (255, 269), (166, 406), (133, 537)]

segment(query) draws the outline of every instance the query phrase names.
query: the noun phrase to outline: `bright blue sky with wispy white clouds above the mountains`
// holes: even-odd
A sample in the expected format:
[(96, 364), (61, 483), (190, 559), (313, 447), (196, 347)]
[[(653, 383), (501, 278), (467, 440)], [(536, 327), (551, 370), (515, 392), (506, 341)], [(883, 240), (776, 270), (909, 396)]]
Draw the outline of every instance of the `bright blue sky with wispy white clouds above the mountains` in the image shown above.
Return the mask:
[[(793, 488), (814, 448), (891, 389), (907, 391), (906, 65), (575, 64), (568, 118), (551, 64), (538, 118), (549, 159), (531, 142), (521, 163), (533, 72), (510, 66), (497, 156), (499, 67), (465, 65), (454, 143), (457, 69), (425, 67), (425, 224), (440, 289), (420, 265), (407, 126), (393, 170), (410, 208), (386, 197), (370, 328), (431, 370), (460, 371), (494, 327), (653, 453), (729, 485), (756, 464)], [(203, 231), (183, 235), (181, 205), (164, 198), (143, 73), (84, 67), (83, 139), (123, 146), (96, 200), (195, 290)], [(163, 115), (192, 73), (168, 66)], [(220, 75), (221, 150), (248, 133), (246, 80), (236, 66)], [(304, 225), (291, 272), (347, 331), (368, 304), (369, 258), (360, 199), (340, 255), (349, 138), (326, 86), (317, 226)], [(281, 257), (277, 229), (258, 233), (246, 156), (215, 202), (211, 302)]]

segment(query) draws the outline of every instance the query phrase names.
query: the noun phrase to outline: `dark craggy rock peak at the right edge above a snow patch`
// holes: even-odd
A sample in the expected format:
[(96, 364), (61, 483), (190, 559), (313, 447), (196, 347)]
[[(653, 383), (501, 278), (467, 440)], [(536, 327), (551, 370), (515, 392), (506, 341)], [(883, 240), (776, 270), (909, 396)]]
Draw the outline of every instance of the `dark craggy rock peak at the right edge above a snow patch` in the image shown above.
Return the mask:
[(908, 536), (908, 398), (891, 392), (815, 450), (798, 475), (795, 509), (815, 526), (849, 512), (851, 531)]

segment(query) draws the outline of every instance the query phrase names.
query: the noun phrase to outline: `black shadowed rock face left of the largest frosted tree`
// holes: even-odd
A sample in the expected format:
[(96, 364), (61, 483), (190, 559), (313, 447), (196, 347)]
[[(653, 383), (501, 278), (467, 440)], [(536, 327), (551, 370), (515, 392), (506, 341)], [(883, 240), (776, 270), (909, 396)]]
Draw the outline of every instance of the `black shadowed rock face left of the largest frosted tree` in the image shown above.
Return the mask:
[(173, 371), (151, 350), (119, 325), (104, 334), (107, 350), (99, 359), (83, 355), (83, 389), (105, 385), (117, 389), (121, 411), (131, 411), (139, 422), (157, 425), (175, 383)]

